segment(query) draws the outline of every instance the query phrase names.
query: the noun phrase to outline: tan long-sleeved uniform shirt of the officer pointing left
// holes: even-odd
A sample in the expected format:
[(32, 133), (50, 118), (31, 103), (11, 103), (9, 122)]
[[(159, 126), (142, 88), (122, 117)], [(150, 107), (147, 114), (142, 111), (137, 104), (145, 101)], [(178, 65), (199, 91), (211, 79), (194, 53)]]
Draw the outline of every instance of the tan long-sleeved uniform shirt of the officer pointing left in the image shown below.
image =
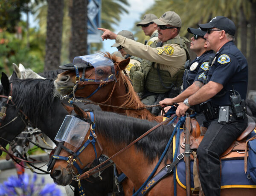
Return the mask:
[[(177, 35), (175, 38), (180, 37)], [(151, 48), (148, 45), (117, 35), (116, 43), (124, 47), (125, 52), (139, 58), (159, 64), (161, 70), (169, 71), (173, 77), (180, 69), (184, 69), (186, 51), (177, 44), (165, 44)], [(156, 64), (154, 65), (156, 67)]]

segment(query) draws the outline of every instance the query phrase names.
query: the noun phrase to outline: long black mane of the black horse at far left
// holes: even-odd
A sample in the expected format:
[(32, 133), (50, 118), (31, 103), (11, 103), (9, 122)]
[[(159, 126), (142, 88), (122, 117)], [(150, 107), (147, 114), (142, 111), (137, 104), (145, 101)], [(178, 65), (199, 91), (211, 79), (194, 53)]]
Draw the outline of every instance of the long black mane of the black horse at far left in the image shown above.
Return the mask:
[(12, 98), (18, 109), (22, 110), (29, 120), (37, 124), (38, 116), (51, 113), (54, 101), (53, 80), (49, 79), (15, 79), (12, 82)]

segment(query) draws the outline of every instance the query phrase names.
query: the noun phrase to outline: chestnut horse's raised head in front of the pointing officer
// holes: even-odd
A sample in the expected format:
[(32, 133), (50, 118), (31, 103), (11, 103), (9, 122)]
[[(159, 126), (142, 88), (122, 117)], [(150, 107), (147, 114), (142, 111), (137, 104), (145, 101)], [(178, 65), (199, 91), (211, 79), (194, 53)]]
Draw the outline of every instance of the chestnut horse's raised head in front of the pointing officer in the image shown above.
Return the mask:
[[(106, 94), (105, 96), (107, 96), (108, 93), (106, 92), (111, 91), (110, 89), (113, 88), (113, 84), (116, 82), (116, 80), (112, 80), (109, 82), (107, 80), (103, 80), (102, 82), (100, 82), (101, 80), (100, 78), (104, 78), (105, 76), (110, 76), (116, 79), (117, 75), (120, 74), (120, 71), (125, 69), (125, 67), (128, 65), (130, 59), (128, 58), (121, 61), (121, 58), (118, 58), (115, 55), (111, 56), (109, 53), (104, 54), (104, 57), (110, 59), (113, 62), (114, 64), (113, 67), (115, 69), (115, 71), (113, 72), (114, 75), (108, 75), (110, 71), (109, 70), (110, 66), (104, 66), (104, 65), (101, 66), (101, 65), (98, 65), (97, 63), (95, 63), (96, 66), (94, 65), (89, 66), (87, 63), (86, 69), (83, 69), (85, 66), (78, 66), (79, 76), (77, 76), (74, 70), (75, 68), (73, 68), (73, 64), (75, 64), (73, 62), (73, 64), (70, 63), (70, 65), (67, 65), (67, 66), (60, 66), (61, 69), (70, 69), (70, 70), (60, 73), (57, 79), (54, 81), (57, 92), (60, 95), (69, 95), (70, 93), (72, 93), (74, 86), (78, 83), (77, 79), (79, 77), (80, 78), (83, 77), (83, 71), (84, 71), (84, 78), (86, 79), (87, 82), (84, 82), (83, 84), (78, 83), (79, 86), (76, 88), (76, 96), (84, 97), (84, 98), (87, 98), (90, 95), (93, 96), (92, 93), (99, 87), (99, 85), (104, 86), (104, 88), (99, 89), (99, 92), (100, 92), (99, 94), (101, 96)], [(93, 81), (96, 81), (96, 82), (93, 82)], [(105, 91), (104, 94), (102, 93), (103, 91)], [(101, 97), (101, 96), (97, 96), (96, 94), (94, 95), (94, 98)]]

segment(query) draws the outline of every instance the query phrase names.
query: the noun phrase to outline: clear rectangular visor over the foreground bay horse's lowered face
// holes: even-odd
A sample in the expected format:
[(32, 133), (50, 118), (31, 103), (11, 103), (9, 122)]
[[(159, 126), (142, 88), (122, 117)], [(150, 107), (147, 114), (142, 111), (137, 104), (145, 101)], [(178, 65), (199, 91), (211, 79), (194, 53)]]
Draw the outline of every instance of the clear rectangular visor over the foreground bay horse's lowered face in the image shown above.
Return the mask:
[(80, 147), (90, 124), (73, 115), (66, 115), (55, 137), (55, 141), (65, 141), (74, 147)]

